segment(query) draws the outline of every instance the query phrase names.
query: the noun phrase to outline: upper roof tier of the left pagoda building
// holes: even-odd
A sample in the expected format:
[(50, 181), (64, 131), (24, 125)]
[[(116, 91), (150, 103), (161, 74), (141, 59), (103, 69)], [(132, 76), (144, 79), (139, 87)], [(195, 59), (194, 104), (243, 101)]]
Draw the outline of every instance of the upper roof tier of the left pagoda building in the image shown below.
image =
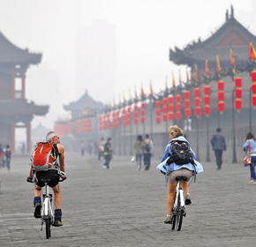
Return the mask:
[(40, 64), (41, 54), (19, 49), (0, 33), (0, 64)]

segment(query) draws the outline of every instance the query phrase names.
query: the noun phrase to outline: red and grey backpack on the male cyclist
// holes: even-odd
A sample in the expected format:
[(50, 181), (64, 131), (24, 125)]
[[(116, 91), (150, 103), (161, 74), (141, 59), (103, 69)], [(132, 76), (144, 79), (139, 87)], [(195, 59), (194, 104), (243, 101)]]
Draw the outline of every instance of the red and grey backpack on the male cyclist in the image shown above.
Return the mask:
[(39, 142), (32, 153), (31, 165), (36, 171), (45, 171), (57, 165), (54, 144)]

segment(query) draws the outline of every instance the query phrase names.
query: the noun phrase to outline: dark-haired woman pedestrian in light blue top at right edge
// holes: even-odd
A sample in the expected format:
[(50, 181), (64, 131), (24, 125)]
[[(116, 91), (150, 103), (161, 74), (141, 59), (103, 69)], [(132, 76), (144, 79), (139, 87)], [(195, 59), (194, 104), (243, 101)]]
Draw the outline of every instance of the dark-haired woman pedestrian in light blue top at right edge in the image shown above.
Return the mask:
[(250, 179), (249, 183), (256, 184), (256, 174), (255, 174), (256, 139), (255, 139), (254, 135), (252, 134), (252, 132), (249, 132), (246, 135), (246, 141), (243, 146), (243, 150), (245, 151), (246, 154), (251, 153), (251, 158), (252, 158), (252, 163), (250, 164), (251, 179)]

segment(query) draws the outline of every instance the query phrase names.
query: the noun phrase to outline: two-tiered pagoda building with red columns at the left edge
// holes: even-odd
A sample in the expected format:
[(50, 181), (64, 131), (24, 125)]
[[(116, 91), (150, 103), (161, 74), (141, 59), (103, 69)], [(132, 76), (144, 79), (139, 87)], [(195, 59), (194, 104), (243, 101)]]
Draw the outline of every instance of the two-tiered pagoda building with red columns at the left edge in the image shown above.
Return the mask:
[(0, 33), (0, 143), (15, 152), (15, 128), (26, 128), (26, 151), (30, 152), (31, 121), (44, 116), (49, 106), (26, 100), (26, 70), (40, 64), (41, 54), (19, 49)]

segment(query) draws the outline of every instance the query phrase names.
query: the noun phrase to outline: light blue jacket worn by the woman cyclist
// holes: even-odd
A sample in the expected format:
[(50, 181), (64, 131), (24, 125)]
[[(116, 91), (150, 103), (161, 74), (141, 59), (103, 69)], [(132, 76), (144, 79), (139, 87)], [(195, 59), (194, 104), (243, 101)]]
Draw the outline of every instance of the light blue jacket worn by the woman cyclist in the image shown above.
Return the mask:
[(193, 160), (195, 162), (195, 167), (196, 167), (196, 170), (194, 168), (194, 166), (192, 165), (192, 163), (188, 163), (188, 164), (184, 164), (184, 165), (177, 165), (176, 163), (171, 163), (170, 165), (167, 165), (166, 162), (169, 160), (169, 157), (171, 156), (170, 154), (170, 144), (173, 142), (173, 141), (186, 141), (188, 143), (188, 145), (190, 146), (190, 143), (188, 140), (186, 140), (183, 136), (180, 136), (178, 138), (173, 138), (172, 140), (169, 141), (168, 145), (165, 147), (165, 152), (164, 152), (164, 155), (162, 157), (162, 161), (161, 163), (156, 167), (158, 169), (160, 169), (163, 173), (169, 173), (173, 170), (178, 170), (180, 168), (187, 168), (187, 169), (190, 169), (193, 171), (193, 175), (194, 173), (200, 173), (200, 172), (203, 172), (204, 171), (204, 168), (202, 167), (202, 165), (200, 164), (200, 162), (196, 161), (196, 155), (195, 153), (192, 151), (192, 148), (191, 148), (191, 151), (192, 151), (192, 157), (193, 157)]

